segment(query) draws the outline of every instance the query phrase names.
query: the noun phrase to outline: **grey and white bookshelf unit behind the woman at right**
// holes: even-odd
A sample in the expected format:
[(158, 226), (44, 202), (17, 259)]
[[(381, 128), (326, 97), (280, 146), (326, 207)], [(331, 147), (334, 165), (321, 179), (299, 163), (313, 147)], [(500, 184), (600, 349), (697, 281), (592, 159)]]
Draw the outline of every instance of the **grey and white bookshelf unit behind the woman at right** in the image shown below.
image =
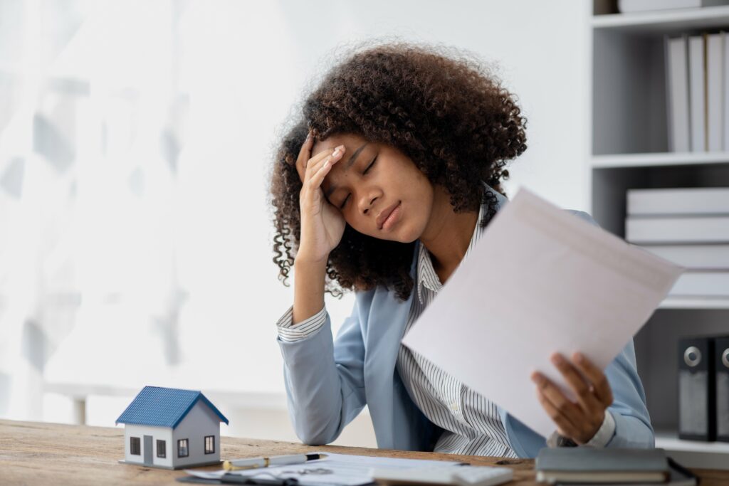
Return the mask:
[[(605, 230), (625, 237), (628, 189), (729, 187), (729, 152), (668, 152), (663, 36), (729, 31), (729, 7), (617, 13), (593, 0), (590, 197)], [(677, 341), (729, 334), (729, 298), (668, 297), (636, 334), (638, 372), (656, 447), (690, 467), (729, 469), (729, 443), (677, 437)]]

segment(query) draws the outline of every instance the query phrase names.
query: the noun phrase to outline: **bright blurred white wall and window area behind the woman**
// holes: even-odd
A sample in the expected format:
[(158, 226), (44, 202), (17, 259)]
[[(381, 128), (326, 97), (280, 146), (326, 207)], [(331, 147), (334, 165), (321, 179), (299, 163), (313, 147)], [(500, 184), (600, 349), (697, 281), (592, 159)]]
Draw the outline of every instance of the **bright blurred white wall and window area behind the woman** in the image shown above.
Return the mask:
[[(526, 186), (590, 211), (588, 1), (0, 0), (0, 418), (114, 426), (200, 389), (297, 441), (275, 322), (272, 152), (367, 39), (471, 52), (518, 97)], [(352, 295), (327, 308), (335, 332)], [(375, 447), (365, 409), (335, 444)]]

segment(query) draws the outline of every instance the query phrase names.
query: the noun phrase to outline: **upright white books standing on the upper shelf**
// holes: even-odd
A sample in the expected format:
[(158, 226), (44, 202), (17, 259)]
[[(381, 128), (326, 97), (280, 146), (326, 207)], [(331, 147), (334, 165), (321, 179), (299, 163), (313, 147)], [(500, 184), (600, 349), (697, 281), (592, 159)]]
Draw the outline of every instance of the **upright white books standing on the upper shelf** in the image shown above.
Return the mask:
[(729, 35), (664, 38), (668, 149), (729, 150)]

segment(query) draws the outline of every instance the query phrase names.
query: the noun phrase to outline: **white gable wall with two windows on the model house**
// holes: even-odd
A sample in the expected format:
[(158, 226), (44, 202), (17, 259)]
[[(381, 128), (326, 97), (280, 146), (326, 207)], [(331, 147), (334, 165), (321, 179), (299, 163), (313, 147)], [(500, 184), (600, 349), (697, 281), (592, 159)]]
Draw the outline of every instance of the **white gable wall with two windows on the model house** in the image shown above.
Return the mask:
[[(205, 453), (205, 436), (214, 436), (215, 452)], [(187, 439), (190, 455), (177, 457), (177, 441)], [(211, 463), (220, 460), (220, 418), (210, 407), (198, 400), (182, 422), (172, 432), (172, 444), (167, 455), (174, 454), (175, 467)]]

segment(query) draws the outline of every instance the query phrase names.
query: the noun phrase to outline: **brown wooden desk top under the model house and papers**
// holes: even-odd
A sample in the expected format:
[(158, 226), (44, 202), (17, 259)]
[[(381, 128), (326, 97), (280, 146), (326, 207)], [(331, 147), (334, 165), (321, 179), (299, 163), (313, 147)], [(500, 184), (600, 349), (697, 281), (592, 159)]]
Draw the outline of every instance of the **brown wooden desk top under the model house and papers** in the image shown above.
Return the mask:
[[(340, 454), (399, 458), (466, 460), (473, 464), (505, 464), (514, 469), (510, 485), (536, 485), (534, 460), (472, 455), (405, 452), (360, 447), (310, 447), (293, 442), (221, 437), (221, 458), (331, 451)], [(0, 485), (181, 485), (184, 471), (117, 463), (124, 457), (122, 428), (69, 426), (56, 423), (0, 420)], [(203, 469), (219, 469), (208, 467)], [(697, 471), (701, 486), (729, 484), (729, 471)]]

